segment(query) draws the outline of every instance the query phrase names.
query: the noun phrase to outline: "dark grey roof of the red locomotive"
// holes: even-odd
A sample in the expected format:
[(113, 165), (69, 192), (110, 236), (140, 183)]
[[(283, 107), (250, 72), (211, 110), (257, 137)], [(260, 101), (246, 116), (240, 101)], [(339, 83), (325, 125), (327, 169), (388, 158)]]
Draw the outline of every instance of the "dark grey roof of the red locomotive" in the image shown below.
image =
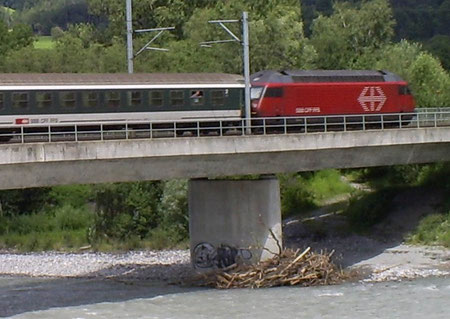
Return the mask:
[(261, 71), (251, 76), (252, 82), (323, 83), (323, 82), (398, 82), (398, 75), (374, 70), (283, 70)]

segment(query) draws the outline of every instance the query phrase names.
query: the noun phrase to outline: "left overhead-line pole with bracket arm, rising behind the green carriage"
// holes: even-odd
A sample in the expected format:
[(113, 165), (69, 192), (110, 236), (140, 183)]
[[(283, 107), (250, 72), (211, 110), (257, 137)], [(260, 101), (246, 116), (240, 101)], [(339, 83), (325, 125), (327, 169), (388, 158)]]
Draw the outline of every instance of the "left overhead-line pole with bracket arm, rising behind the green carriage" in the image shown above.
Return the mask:
[[(154, 51), (169, 51), (168, 49), (164, 48), (156, 48), (151, 47), (150, 44), (152, 44), (156, 39), (158, 39), (161, 34), (166, 30), (174, 30), (175, 27), (167, 27), (167, 28), (153, 28), (153, 29), (141, 29), (141, 30), (135, 30), (133, 31), (133, 14), (132, 14), (132, 0), (127, 0), (127, 59), (128, 59), (128, 73), (134, 72), (134, 58), (137, 57), (139, 54), (144, 52), (145, 50), (154, 50)], [(158, 34), (155, 35), (149, 42), (147, 42), (146, 45), (144, 45), (139, 51), (134, 54), (133, 49), (133, 33), (144, 33), (144, 32), (154, 32), (158, 31)]]

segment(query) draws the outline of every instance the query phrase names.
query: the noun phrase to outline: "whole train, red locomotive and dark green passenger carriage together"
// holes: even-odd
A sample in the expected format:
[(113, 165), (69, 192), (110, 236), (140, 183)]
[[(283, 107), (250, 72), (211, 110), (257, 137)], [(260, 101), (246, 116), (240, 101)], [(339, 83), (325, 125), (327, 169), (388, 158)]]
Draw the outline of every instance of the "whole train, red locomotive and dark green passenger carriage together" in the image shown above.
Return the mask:
[[(224, 73), (0, 74), (0, 140), (51, 125), (89, 130), (180, 122), (186, 131), (192, 122), (233, 125), (245, 116), (244, 92), (242, 76)], [(261, 71), (251, 76), (250, 95), (252, 119), (412, 113), (415, 107), (408, 84), (386, 71)]]

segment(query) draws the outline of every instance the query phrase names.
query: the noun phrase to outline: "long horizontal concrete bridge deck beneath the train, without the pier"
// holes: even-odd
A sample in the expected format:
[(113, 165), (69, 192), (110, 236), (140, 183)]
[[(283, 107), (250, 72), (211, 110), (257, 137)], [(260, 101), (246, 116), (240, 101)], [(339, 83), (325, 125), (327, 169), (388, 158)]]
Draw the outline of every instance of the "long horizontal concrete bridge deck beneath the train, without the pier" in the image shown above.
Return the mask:
[(450, 128), (0, 145), (0, 189), (450, 160)]

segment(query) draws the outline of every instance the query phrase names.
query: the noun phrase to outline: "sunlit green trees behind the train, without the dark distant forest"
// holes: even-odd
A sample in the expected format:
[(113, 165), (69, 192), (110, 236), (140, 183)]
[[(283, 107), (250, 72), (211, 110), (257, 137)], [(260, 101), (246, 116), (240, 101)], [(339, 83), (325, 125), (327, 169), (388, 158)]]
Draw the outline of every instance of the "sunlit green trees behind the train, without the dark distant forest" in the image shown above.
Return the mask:
[[(442, 2), (442, 5), (447, 2)], [(49, 24), (43, 26), (43, 22), (39, 22), (41, 18), (39, 21), (31, 19), (35, 21), (33, 23), (24, 18), (41, 17), (42, 10), (66, 10), (69, 4), (85, 6), (89, 14), (99, 20), (89, 20), (90, 15), (86, 13), (86, 16), (81, 15), (83, 23), (69, 23), (67, 17), (64, 18), (67, 14), (53, 12), (50, 17), (65, 19), (65, 23), (57, 22), (56, 18), (46, 18)], [(317, 1), (314, 5), (315, 19), (311, 23), (310, 34), (305, 35), (304, 12), (297, 0), (138, 1), (133, 11), (136, 29), (174, 25), (176, 30), (165, 33), (155, 43), (169, 48), (169, 52), (140, 55), (135, 60), (135, 70), (197, 72), (201, 69), (203, 72), (241, 73), (239, 45), (225, 43), (205, 49), (198, 43), (226, 36), (220, 28), (208, 24), (208, 20), (238, 18), (242, 11), (247, 10), (251, 18), (252, 71), (387, 69), (410, 83), (419, 106), (450, 105), (450, 91), (447, 89), (450, 75), (441, 61), (426, 51), (439, 53), (446, 59), (448, 35), (436, 34), (436, 38), (426, 46), (408, 40), (396, 42), (397, 6), (390, 6), (388, 0), (336, 1), (334, 4)], [(149, 11), (149, 6), (153, 10)], [(42, 0), (26, 1), (15, 7), (21, 12), (17, 22), (28, 26), (14, 24), (9, 32), (8, 27), (0, 23), (0, 72), (126, 72), (123, 1), (57, 1), (50, 6), (48, 1)], [(432, 8), (435, 7), (433, 5)], [(318, 14), (321, 10), (326, 14)], [(436, 13), (437, 16), (441, 17)], [(31, 45), (34, 39), (30, 25), (35, 33), (51, 34), (53, 41), (38, 38), (37, 43)], [(38, 26), (46, 31), (36, 31)], [(230, 28), (239, 33), (237, 24), (231, 24)], [(136, 47), (146, 42), (148, 35), (135, 38)], [(444, 65), (447, 65), (445, 61)]]

